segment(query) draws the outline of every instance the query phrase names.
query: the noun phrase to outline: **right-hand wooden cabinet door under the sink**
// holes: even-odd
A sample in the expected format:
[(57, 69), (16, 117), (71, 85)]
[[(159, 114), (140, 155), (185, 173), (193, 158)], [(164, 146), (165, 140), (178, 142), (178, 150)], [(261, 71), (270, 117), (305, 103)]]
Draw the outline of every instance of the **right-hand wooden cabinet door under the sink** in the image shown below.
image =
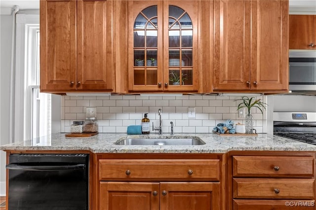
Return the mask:
[(219, 191), (219, 182), (161, 182), (160, 210), (220, 210)]

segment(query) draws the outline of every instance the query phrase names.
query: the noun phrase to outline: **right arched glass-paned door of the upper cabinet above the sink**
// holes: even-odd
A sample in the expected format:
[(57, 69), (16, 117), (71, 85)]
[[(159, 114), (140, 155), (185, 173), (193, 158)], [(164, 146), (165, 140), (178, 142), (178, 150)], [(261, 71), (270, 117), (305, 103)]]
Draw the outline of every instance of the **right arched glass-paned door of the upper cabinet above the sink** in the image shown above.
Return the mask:
[[(197, 90), (197, 2), (163, 6), (164, 91)], [(165, 18), (165, 17), (168, 17)]]

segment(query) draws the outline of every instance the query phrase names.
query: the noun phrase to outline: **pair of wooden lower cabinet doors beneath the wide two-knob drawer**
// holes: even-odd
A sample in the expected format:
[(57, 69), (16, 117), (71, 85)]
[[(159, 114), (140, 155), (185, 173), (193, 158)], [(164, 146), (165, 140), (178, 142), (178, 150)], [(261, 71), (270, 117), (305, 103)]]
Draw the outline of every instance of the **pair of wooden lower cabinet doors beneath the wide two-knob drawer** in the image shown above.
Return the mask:
[(220, 210), (219, 182), (100, 182), (100, 210)]

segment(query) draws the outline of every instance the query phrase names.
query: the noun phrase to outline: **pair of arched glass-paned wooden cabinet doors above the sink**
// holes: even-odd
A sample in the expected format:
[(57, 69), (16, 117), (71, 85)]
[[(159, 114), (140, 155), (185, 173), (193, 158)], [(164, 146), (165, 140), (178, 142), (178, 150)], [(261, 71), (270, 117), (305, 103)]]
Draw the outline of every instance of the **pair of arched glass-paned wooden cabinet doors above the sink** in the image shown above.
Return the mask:
[(128, 6), (129, 91), (197, 91), (197, 2)]

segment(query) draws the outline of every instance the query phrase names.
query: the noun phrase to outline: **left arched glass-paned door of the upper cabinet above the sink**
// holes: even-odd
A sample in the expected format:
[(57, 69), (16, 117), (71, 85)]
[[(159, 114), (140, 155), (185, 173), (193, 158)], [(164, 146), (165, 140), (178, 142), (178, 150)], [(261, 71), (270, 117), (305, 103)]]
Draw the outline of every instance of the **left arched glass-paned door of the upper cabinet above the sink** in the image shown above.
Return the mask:
[[(139, 8), (138, 13), (137, 8)], [(140, 11), (140, 12), (139, 12)], [(162, 4), (144, 5), (133, 2), (133, 34), (129, 58), (129, 90), (162, 91)], [(160, 15), (159, 15), (160, 13)], [(161, 19), (161, 20), (159, 20)], [(131, 62), (130, 62), (131, 63)]]

